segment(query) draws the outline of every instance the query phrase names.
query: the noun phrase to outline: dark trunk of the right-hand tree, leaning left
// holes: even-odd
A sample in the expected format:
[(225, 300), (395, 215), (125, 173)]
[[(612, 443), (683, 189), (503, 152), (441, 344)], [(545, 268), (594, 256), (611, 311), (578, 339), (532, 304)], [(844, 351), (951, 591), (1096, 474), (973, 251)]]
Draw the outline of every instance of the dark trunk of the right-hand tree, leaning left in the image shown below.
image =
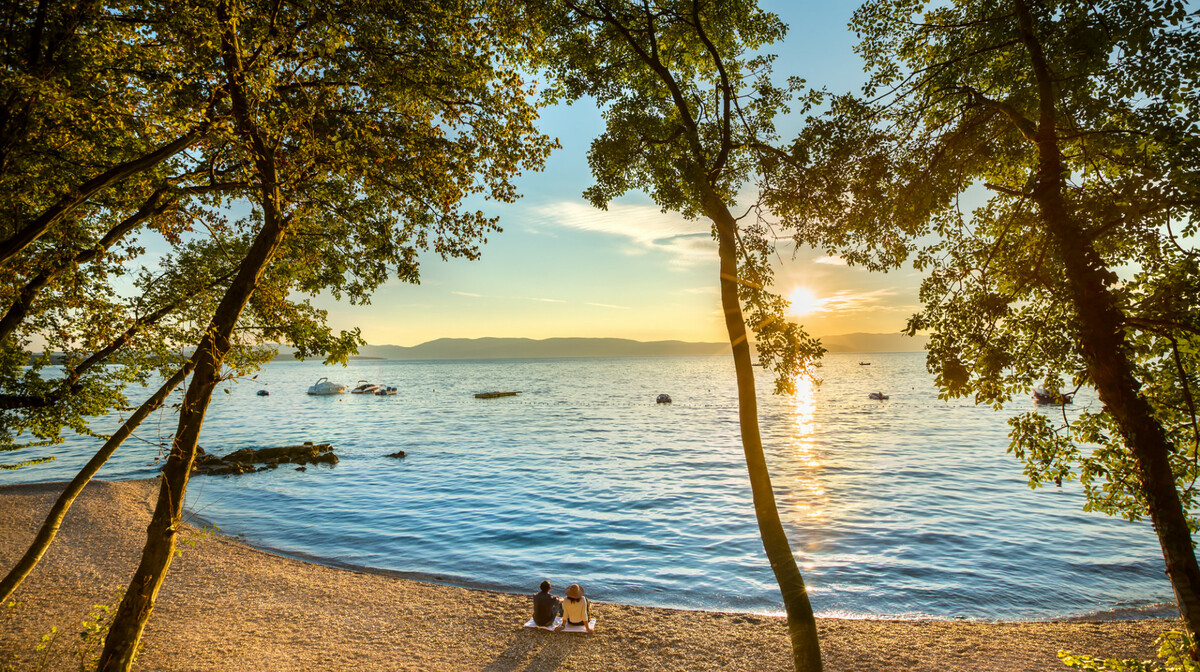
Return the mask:
[[(1021, 41), (1030, 53), (1038, 85), (1039, 116), (1033, 139), (1038, 168), (1033, 200), (1066, 270), (1076, 314), (1076, 337), (1087, 373), (1100, 401), (1117, 421), (1121, 438), (1138, 464), (1138, 480), (1158, 534), (1180, 616), (1192, 641), (1196, 642), (1200, 635), (1200, 565), (1192, 546), (1187, 512), (1175, 488), (1170, 463), (1172, 446), (1150, 403), (1140, 394), (1141, 383), (1134, 374), (1124, 338), (1126, 316), (1109, 292), (1115, 275), (1105, 266), (1067, 203), (1067, 169), (1058, 144), (1054, 73), (1028, 6), (1025, 0), (1015, 0), (1014, 5)], [(1196, 659), (1198, 654), (1200, 648), (1193, 643), (1192, 658)]]

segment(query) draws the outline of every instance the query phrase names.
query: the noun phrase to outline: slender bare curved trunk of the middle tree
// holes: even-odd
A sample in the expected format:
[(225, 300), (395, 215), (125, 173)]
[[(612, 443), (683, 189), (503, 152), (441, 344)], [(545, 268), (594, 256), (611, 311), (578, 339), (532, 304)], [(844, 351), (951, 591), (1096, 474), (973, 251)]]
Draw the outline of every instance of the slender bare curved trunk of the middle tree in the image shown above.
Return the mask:
[(812, 616), (809, 592), (804, 577), (796, 564), (796, 556), (784, 532), (775, 505), (775, 491), (770, 485), (767, 458), (762, 451), (758, 433), (758, 398), (754, 384), (754, 365), (750, 359), (750, 341), (742, 302), (738, 299), (738, 260), (733, 215), (724, 203), (709, 193), (704, 212), (716, 224), (718, 251), (721, 258), (721, 306), (725, 308), (725, 328), (733, 348), (733, 368), (738, 379), (738, 422), (742, 427), (742, 449), (745, 452), (746, 470), (750, 473), (750, 492), (754, 494), (754, 511), (758, 520), (767, 559), (775, 572), (775, 581), (787, 610), (787, 632), (792, 640), (792, 665), (796, 672), (820, 672), (821, 643), (817, 638), (817, 622)]

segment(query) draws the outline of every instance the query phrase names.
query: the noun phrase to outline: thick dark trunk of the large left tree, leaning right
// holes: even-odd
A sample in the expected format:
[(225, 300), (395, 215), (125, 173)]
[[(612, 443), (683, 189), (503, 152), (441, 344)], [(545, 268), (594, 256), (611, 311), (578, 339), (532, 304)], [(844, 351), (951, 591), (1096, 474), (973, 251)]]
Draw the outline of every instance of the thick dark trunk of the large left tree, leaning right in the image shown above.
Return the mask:
[(253, 149), (254, 166), (260, 188), (259, 205), (263, 208), (263, 228), (254, 236), (250, 252), (241, 263), (238, 275), (226, 292), (209, 323), (196, 354), (196, 374), (184, 397), (179, 413), (179, 430), (172, 444), (170, 456), (162, 469), (162, 487), (155, 505), (154, 517), (146, 530), (146, 544), (125, 599), (113, 617), (113, 623), (100, 655), (97, 672), (126, 672), (133, 664), (142, 631), (150, 619), (155, 600), (175, 552), (175, 536), (182, 524), (184, 494), (196, 461), (196, 445), (212, 390), (221, 377), (221, 364), (229, 352), (229, 337), (241, 316), (242, 308), (262, 280), (263, 272), (275, 257), (286, 234), (286, 222), (281, 215), (278, 179), (275, 152), (264, 142), (251, 115), (246, 97), (241, 48), (234, 29), (234, 19), (226, 0), (217, 5), (221, 25), (221, 55), (224, 65), (227, 88), (239, 134)]

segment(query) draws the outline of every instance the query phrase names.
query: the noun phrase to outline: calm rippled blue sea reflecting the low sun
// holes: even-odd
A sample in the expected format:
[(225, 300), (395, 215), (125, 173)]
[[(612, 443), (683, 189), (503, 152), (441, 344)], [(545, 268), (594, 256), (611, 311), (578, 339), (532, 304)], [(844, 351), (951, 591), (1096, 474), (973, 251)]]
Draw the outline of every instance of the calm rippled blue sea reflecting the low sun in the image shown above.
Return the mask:
[[(938, 401), (920, 353), (829, 355), (820, 388), (784, 397), (756, 371), (775, 496), (820, 614), (1025, 619), (1170, 601), (1148, 524), (1082, 512), (1072, 484), (1028, 488), (1006, 454), (1024, 403)], [(322, 376), (401, 392), (307, 396)], [(487, 390), (522, 394), (472, 396)], [(1085, 392), (1068, 413), (1097, 404)], [(146, 421), (100, 478), (152, 475), (174, 428), (168, 413)], [(256, 545), (452, 583), (548, 578), (602, 601), (781, 610), (728, 358), (275, 362), (218, 391), (200, 443), (305, 440), (332, 443), (341, 463), (197, 476), (190, 510)], [(72, 439), (0, 484), (70, 478), (97, 444)], [(396, 450), (408, 457), (385, 457)]]

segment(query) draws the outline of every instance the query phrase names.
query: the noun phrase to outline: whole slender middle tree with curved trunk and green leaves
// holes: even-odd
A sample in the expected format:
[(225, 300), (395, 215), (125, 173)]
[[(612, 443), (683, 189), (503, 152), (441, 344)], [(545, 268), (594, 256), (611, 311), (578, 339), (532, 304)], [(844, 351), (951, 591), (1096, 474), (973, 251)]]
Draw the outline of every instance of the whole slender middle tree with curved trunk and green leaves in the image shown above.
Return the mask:
[(749, 2), (703, 0), (565, 0), (534, 20), (547, 34), (541, 64), (562, 95), (604, 106), (607, 126), (588, 154), (595, 185), (584, 196), (593, 205), (644, 190), (664, 210), (713, 223), (758, 529), (787, 610), (796, 670), (821, 670), (816, 620), (763, 456), (746, 325), (780, 390), (822, 349), (782, 318), (786, 302), (768, 289), (774, 246), (764, 224), (748, 226), (730, 211), (755, 168), (752, 145), (774, 138), (773, 118), (786, 109), (788, 91), (768, 77), (772, 59), (752, 55), (785, 26)]

